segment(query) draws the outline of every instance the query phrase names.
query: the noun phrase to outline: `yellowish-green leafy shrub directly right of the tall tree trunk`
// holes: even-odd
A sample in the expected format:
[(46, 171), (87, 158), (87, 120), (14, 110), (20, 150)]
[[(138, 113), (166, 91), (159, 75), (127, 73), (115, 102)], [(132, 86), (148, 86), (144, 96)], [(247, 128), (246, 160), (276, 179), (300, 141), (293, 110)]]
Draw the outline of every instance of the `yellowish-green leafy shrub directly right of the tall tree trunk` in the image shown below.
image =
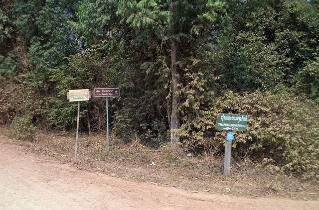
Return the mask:
[[(203, 62), (200, 62), (201, 60)], [(177, 109), (183, 117), (182, 125), (176, 132), (187, 149), (203, 144), (204, 139), (211, 135), (210, 130), (214, 128), (217, 77), (211, 71), (213, 62), (209, 58), (182, 63), (184, 62), (188, 63), (187, 68), (183, 69), (183, 80), (186, 81), (186, 85), (177, 91), (178, 99), (181, 101)]]

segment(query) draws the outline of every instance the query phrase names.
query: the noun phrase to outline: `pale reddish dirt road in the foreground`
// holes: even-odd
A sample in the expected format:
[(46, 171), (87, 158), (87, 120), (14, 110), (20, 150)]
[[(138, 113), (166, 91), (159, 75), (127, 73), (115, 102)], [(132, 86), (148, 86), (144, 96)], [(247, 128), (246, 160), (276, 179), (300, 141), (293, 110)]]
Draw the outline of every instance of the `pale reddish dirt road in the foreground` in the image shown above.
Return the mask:
[(318, 210), (319, 201), (190, 193), (75, 169), (0, 138), (0, 210)]

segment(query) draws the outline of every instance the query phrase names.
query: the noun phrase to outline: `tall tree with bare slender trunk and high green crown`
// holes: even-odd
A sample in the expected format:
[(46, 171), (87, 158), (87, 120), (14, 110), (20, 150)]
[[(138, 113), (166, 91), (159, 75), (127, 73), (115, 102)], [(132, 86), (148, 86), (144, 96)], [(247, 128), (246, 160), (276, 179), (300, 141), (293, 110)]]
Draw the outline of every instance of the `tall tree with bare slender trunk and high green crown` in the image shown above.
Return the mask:
[[(128, 23), (139, 39), (151, 42), (156, 39), (166, 44), (165, 53), (170, 53), (171, 69), (171, 142), (180, 141), (178, 89), (183, 77), (181, 58), (196, 57), (195, 48), (216, 43), (218, 26), (225, 13), (225, 3), (220, 0), (141, 0), (119, 1), (118, 14), (122, 23)], [(143, 33), (140, 31), (143, 30)], [(155, 31), (154, 31), (155, 30)]]

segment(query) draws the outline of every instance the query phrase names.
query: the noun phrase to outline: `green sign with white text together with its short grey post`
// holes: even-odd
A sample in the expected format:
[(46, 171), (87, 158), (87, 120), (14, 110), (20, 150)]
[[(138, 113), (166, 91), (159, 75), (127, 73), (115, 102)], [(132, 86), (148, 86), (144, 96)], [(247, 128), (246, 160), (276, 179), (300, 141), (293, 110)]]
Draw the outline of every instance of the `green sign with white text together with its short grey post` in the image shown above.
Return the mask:
[(231, 141), (234, 140), (234, 133), (231, 130), (246, 130), (247, 115), (238, 114), (218, 114), (216, 130), (226, 130), (225, 157), (224, 157), (224, 176), (230, 174), (230, 154)]

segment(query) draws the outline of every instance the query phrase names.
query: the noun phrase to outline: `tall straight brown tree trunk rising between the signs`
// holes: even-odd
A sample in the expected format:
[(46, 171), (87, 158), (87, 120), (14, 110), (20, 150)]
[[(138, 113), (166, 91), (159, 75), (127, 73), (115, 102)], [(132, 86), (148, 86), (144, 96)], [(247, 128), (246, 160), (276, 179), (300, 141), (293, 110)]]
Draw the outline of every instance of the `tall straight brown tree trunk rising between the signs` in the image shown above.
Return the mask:
[[(172, 7), (173, 0), (170, 0), (169, 11), (172, 13), (172, 18), (169, 22), (169, 28), (171, 35), (177, 34), (179, 32), (179, 21), (176, 21), (177, 11)], [(172, 105), (171, 105), (171, 119), (170, 119), (170, 142), (172, 144), (177, 144), (180, 142), (180, 137), (172, 132), (173, 129), (179, 129), (180, 119), (177, 111), (178, 99), (176, 98), (176, 92), (178, 89), (178, 84), (180, 83), (180, 74), (176, 66), (176, 62), (180, 59), (180, 43), (174, 38), (171, 38), (171, 78), (172, 78)]]

